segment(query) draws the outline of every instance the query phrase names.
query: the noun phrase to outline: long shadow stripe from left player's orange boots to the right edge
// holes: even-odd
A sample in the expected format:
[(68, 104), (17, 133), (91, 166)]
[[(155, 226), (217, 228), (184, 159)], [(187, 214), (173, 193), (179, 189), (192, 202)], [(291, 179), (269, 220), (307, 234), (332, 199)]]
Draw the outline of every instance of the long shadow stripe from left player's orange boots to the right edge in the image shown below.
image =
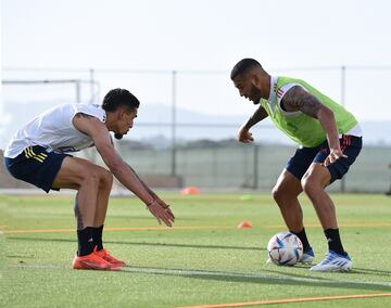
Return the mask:
[[(256, 284), (277, 284), (290, 286), (307, 286), (308, 290), (314, 286), (333, 287), (340, 290), (367, 290), (367, 291), (384, 291), (390, 292), (390, 283), (384, 282), (361, 282), (361, 281), (346, 281), (343, 279), (330, 279), (318, 277), (287, 277), (280, 274), (264, 274), (264, 273), (240, 273), (227, 271), (213, 271), (213, 270), (197, 270), (197, 269), (178, 269), (178, 268), (152, 268), (152, 267), (127, 267), (122, 273), (143, 273), (143, 274), (161, 274), (174, 275), (189, 279), (200, 280), (215, 280), (236, 283), (256, 283)], [(270, 271), (273, 272), (273, 271)], [(345, 278), (345, 275), (344, 275)], [(303, 292), (305, 293), (305, 291)]]

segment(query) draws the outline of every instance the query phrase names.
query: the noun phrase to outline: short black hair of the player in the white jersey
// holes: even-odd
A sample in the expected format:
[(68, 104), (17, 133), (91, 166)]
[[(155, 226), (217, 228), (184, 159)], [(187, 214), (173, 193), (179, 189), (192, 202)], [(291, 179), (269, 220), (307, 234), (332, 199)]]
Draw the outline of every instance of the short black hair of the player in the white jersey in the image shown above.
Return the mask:
[(125, 106), (135, 110), (140, 106), (139, 100), (126, 89), (112, 89), (104, 95), (102, 108), (106, 112), (115, 112), (118, 107)]

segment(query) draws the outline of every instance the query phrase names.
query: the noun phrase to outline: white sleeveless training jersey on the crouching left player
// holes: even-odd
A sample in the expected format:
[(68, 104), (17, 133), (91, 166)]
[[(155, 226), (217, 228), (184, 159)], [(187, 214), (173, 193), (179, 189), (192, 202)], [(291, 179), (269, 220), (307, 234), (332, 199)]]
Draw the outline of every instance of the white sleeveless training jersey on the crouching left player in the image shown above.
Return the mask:
[(105, 111), (92, 104), (64, 104), (38, 115), (16, 131), (8, 144), (4, 156), (14, 158), (27, 146), (40, 145), (48, 151), (76, 152), (93, 145), (92, 139), (77, 130), (72, 120), (78, 113), (105, 121)]

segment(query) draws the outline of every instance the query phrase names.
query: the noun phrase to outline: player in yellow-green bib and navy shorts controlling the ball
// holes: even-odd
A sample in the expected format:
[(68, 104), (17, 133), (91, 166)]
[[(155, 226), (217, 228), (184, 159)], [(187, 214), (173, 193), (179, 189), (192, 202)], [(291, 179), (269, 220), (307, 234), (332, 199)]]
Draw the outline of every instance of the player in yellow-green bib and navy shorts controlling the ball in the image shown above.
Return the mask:
[(342, 246), (335, 205), (325, 188), (341, 179), (361, 152), (363, 133), (357, 120), (311, 85), (300, 79), (270, 76), (254, 59), (239, 61), (230, 77), (240, 95), (258, 105), (239, 129), (240, 142), (253, 142), (251, 127), (269, 117), (300, 145), (273, 189), (273, 197), (288, 229), (303, 243), (300, 261), (312, 264), (315, 257), (298, 200), (304, 191), (320, 220), (329, 248), (326, 258), (311, 270), (351, 270), (352, 260)]

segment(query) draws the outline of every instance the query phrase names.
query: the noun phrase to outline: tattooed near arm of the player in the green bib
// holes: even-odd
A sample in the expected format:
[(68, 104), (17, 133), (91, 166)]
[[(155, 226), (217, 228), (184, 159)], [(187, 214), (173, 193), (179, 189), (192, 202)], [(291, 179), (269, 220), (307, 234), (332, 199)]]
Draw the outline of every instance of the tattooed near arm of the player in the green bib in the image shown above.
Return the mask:
[(330, 147), (330, 155), (325, 161), (326, 166), (340, 157), (348, 157), (342, 153), (340, 147), (333, 112), (321, 104), (317, 98), (305, 91), (302, 87), (294, 86), (283, 95), (281, 106), (287, 112), (301, 111), (319, 120), (321, 127), (326, 131), (327, 141)]

